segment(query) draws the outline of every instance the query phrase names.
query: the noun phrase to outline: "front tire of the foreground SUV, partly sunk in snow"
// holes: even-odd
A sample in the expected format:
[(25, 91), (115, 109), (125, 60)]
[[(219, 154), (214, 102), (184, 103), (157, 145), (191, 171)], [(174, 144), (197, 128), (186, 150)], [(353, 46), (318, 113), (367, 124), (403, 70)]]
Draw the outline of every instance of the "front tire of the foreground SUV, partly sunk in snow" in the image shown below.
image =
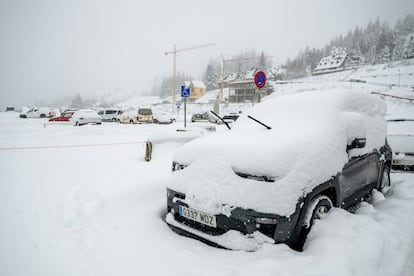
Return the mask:
[(311, 200), (302, 220), (298, 239), (293, 246), (295, 250), (302, 251), (315, 220), (324, 217), (332, 207), (332, 200), (326, 195), (317, 195)]

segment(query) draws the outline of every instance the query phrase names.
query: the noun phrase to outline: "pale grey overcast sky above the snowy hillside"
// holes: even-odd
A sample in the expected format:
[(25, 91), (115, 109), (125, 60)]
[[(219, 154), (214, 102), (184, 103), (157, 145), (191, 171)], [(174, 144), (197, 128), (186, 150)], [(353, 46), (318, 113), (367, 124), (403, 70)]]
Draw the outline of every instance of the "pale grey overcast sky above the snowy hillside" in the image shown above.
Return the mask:
[(0, 0), (0, 107), (150, 88), (177, 70), (201, 78), (210, 58), (250, 49), (283, 63), (380, 17), (393, 27), (413, 0)]

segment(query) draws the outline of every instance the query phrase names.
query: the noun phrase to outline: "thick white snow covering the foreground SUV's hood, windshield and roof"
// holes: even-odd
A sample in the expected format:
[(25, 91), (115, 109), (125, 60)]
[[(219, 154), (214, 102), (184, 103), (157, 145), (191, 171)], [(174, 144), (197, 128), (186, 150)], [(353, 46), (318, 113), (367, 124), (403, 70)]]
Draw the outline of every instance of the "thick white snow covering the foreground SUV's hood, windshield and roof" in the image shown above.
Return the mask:
[(274, 97), (247, 112), (271, 130), (245, 114), (231, 131), (187, 143), (174, 161), (188, 167), (173, 173), (167, 186), (212, 214), (224, 213), (224, 205), (289, 216), (300, 197), (342, 171), (353, 138), (367, 139), (353, 155), (384, 145), (385, 111), (381, 100), (350, 90)]

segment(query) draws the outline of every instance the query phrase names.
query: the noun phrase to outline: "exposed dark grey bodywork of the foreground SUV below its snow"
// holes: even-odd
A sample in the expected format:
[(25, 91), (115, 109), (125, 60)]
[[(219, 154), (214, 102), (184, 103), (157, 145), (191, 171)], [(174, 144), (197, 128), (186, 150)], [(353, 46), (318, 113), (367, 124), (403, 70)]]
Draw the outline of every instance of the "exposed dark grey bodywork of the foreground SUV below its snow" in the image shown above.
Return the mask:
[[(303, 246), (302, 226), (312, 199), (318, 195), (328, 196), (334, 207), (350, 209), (361, 200), (370, 196), (373, 189), (381, 189), (383, 172), (391, 166), (392, 152), (386, 143), (379, 151), (374, 151), (358, 157), (353, 157), (345, 164), (341, 173), (324, 183), (320, 183), (312, 192), (300, 198), (296, 204), (295, 212), (289, 217), (278, 216), (277, 214), (265, 214), (254, 210), (235, 208), (230, 216), (217, 215), (217, 227), (210, 227), (183, 216), (180, 216), (179, 206), (188, 205), (185, 203), (185, 194), (167, 189), (167, 211), (174, 214), (174, 219), (193, 229), (197, 229), (209, 235), (222, 235), (229, 230), (236, 230), (243, 234), (252, 234), (259, 231), (272, 238), (275, 243), (286, 243), (295, 249)], [(173, 170), (177, 164), (173, 165)], [(256, 218), (269, 218), (277, 221), (275, 224), (258, 224)], [(207, 239), (203, 239), (193, 233), (169, 226), (179, 234), (197, 238), (213, 246), (222, 247)]]

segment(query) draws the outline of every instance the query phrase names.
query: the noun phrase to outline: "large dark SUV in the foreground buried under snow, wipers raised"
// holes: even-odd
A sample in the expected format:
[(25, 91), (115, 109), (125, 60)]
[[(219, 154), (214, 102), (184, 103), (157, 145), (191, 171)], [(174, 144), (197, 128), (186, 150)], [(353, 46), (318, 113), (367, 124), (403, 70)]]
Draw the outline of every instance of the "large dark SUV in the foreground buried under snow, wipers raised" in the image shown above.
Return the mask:
[(315, 219), (390, 188), (386, 107), (351, 90), (274, 95), (173, 159), (168, 225), (216, 246), (301, 249)]

